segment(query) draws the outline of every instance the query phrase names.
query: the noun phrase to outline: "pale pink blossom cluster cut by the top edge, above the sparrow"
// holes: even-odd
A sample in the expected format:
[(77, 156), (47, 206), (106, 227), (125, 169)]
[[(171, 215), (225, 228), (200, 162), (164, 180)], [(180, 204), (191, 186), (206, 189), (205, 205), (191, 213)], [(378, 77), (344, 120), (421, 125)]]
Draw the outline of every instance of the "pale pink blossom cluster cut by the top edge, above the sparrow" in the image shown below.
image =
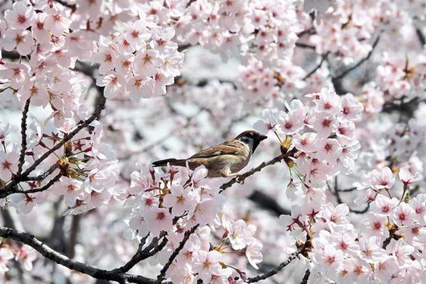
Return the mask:
[(293, 54), (302, 30), (297, 8), (282, 1), (197, 0), (191, 1), (175, 26), (182, 43), (199, 43), (225, 58), (255, 47), (250, 52), (269, 65)]

